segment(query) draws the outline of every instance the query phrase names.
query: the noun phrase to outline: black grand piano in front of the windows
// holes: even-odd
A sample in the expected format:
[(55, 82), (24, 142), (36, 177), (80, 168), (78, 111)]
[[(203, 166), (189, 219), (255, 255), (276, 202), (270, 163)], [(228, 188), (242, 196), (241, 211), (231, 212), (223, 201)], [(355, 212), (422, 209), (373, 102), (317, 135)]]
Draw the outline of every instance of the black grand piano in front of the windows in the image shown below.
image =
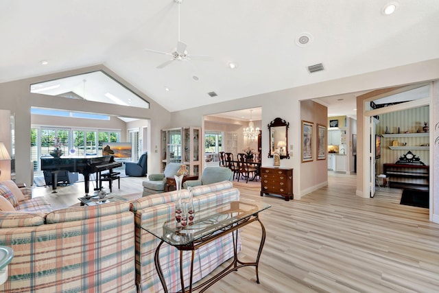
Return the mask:
[[(61, 158), (47, 156), (41, 158), (41, 170), (49, 171), (52, 174), (52, 189), (56, 189), (58, 171), (79, 172), (84, 175), (86, 195), (88, 195), (90, 186), (90, 174), (100, 173), (104, 170), (110, 170), (111, 172), (111, 169), (121, 167), (121, 165), (122, 163), (116, 162), (113, 156), (66, 156)], [(96, 176), (96, 182), (98, 178), (99, 176)], [(98, 187), (97, 184), (96, 187)]]

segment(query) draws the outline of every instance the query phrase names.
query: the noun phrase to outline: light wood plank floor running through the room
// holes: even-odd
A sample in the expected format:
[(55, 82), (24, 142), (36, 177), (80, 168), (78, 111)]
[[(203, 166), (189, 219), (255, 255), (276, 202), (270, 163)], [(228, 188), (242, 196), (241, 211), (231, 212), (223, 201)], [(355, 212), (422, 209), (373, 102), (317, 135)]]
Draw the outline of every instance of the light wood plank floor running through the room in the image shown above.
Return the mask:
[[(141, 192), (142, 180), (122, 178), (113, 193)], [(428, 209), (400, 205), (399, 189), (359, 198), (355, 180), (330, 172), (328, 187), (289, 202), (239, 185), (243, 198), (272, 205), (260, 214), (267, 230), (261, 283), (254, 268), (241, 268), (206, 292), (439, 292), (439, 225), (429, 222)], [(82, 183), (58, 187), (57, 194), (34, 189), (55, 207), (82, 194)], [(260, 235), (257, 223), (244, 228), (242, 260), (254, 260)]]

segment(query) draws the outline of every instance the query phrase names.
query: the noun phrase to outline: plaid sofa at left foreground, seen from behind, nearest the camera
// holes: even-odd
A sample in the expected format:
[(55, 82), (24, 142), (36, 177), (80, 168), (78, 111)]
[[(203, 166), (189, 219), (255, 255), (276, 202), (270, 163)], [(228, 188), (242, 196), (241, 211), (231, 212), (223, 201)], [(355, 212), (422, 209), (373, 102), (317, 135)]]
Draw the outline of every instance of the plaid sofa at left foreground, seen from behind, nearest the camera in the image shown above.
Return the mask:
[(0, 246), (14, 250), (0, 292), (137, 292), (129, 202), (45, 212), (36, 201), (0, 211)]

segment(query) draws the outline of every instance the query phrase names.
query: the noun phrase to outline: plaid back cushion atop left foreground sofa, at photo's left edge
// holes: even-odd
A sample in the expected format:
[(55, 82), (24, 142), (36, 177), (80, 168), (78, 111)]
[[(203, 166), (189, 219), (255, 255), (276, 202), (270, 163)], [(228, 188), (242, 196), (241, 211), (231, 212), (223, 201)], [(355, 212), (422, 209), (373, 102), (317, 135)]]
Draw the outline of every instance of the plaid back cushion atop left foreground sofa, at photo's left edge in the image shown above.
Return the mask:
[(0, 213), (0, 228), (40, 226), (44, 224), (45, 213), (10, 211)]

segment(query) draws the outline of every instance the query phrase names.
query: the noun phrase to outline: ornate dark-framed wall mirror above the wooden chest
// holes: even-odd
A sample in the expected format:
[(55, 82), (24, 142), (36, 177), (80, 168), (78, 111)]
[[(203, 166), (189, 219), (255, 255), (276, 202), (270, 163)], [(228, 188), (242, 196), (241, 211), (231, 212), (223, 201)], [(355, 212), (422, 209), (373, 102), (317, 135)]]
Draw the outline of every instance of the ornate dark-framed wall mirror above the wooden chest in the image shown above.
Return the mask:
[(281, 118), (276, 118), (268, 124), (268, 132), (270, 133), (269, 158), (272, 158), (274, 153), (277, 152), (281, 159), (289, 159), (288, 127), (289, 122)]

